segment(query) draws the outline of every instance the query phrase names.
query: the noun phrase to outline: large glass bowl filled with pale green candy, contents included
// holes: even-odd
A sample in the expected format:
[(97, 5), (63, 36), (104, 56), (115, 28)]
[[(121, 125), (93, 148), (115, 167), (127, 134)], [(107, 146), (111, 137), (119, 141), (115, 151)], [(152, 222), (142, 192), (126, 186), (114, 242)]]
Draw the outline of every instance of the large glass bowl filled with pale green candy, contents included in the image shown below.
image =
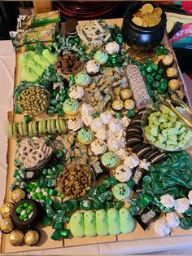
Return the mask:
[[(174, 107), (191, 121), (191, 117), (174, 102)], [(159, 102), (146, 108), (142, 115), (142, 131), (146, 139), (156, 148), (175, 152), (192, 146), (192, 130), (172, 112), (171, 108)]]

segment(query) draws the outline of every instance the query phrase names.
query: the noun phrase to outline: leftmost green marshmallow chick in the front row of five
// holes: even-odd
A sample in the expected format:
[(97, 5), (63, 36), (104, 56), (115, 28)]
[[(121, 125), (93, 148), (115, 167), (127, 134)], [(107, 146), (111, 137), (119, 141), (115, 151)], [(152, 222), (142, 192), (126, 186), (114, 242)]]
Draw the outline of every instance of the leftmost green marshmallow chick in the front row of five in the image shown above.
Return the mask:
[(72, 232), (72, 236), (75, 236), (75, 237), (85, 236), (83, 214), (79, 212), (72, 214), (72, 217), (70, 218), (70, 221), (69, 221), (69, 227)]

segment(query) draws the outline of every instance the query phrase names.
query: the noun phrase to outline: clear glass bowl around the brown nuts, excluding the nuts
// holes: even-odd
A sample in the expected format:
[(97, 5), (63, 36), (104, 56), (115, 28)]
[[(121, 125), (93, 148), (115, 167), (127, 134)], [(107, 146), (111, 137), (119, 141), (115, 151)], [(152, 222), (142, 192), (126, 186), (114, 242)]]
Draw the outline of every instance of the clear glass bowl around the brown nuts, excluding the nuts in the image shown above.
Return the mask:
[[(69, 199), (76, 199), (76, 200), (82, 200), (82, 199), (85, 199), (86, 197), (88, 197), (90, 194), (91, 194), (91, 192), (93, 191), (93, 189), (94, 189), (94, 186), (95, 186), (95, 181), (96, 181), (96, 178), (95, 178), (95, 174), (94, 174), (94, 170), (90, 167), (90, 166), (88, 166), (88, 165), (86, 165), (86, 164), (79, 164), (79, 163), (72, 163), (72, 164), (69, 164), (69, 165), (66, 165), (66, 166), (72, 166), (72, 168), (76, 168), (77, 166), (78, 167), (82, 167), (82, 166), (86, 166), (86, 167), (88, 167), (89, 168), (89, 172), (90, 172), (90, 175), (91, 175), (91, 184), (90, 184), (90, 189), (85, 193), (85, 195), (84, 196), (75, 196), (75, 195), (70, 195), (70, 196), (68, 196), (68, 195), (66, 195), (65, 194), (65, 192), (63, 192), (63, 188), (61, 188), (61, 186), (60, 186), (60, 181), (61, 181), (61, 179), (63, 179), (63, 172), (61, 172), (58, 176), (57, 176), (57, 178), (56, 178), (56, 190), (59, 192), (59, 193), (61, 193), (62, 195), (63, 195), (63, 198), (64, 199), (67, 199), (67, 200), (69, 200)], [(63, 167), (63, 170), (66, 168), (66, 166), (64, 166)], [(66, 179), (68, 179), (68, 175), (66, 175), (66, 177), (63, 179), (63, 180), (66, 180)], [(70, 181), (69, 181), (70, 182)]]

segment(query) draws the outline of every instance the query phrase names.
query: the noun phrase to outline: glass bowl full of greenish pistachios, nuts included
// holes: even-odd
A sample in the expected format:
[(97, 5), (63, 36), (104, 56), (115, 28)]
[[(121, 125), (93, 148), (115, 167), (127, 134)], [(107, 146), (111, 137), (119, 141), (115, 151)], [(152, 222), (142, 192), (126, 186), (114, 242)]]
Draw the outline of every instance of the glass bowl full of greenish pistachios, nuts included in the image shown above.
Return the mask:
[(50, 92), (43, 86), (23, 86), (16, 92), (15, 108), (20, 113), (36, 116), (50, 104)]

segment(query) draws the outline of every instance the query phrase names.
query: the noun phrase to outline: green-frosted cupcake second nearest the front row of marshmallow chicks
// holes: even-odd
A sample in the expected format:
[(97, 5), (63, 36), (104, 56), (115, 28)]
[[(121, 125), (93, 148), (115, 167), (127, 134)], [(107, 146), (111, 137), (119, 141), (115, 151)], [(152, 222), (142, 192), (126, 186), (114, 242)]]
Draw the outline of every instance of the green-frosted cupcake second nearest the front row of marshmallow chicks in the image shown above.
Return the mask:
[(118, 156), (115, 152), (104, 153), (101, 157), (101, 161), (103, 166), (109, 170), (115, 169), (116, 166), (118, 166), (120, 163), (120, 160), (118, 159)]

